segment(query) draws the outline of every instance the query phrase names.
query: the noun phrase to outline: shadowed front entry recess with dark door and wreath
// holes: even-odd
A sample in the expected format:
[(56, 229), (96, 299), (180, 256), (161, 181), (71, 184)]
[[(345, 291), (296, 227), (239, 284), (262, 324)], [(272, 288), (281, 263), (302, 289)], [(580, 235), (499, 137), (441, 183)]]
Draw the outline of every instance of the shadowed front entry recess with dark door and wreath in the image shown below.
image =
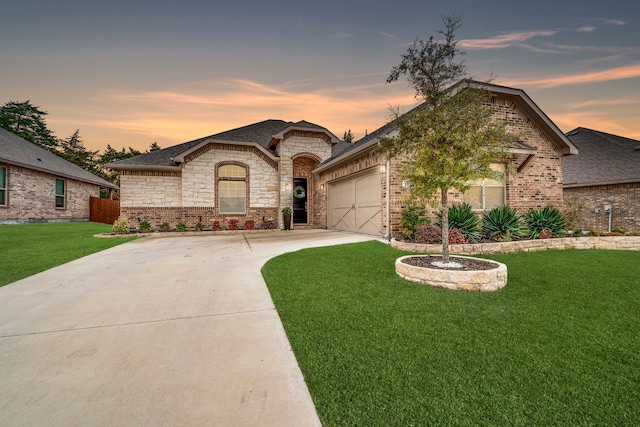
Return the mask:
[(313, 223), (313, 170), (320, 163), (318, 156), (310, 153), (293, 157), (293, 223)]

